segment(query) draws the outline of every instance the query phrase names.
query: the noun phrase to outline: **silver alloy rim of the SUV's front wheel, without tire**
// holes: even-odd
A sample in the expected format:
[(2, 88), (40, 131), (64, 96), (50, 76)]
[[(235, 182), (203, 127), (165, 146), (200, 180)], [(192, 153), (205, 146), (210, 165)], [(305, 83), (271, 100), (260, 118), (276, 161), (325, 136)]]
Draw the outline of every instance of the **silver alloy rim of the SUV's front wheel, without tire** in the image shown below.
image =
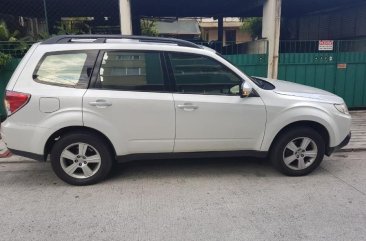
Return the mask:
[(290, 141), (283, 150), (283, 162), (292, 170), (304, 170), (318, 156), (318, 146), (309, 137), (298, 137)]

